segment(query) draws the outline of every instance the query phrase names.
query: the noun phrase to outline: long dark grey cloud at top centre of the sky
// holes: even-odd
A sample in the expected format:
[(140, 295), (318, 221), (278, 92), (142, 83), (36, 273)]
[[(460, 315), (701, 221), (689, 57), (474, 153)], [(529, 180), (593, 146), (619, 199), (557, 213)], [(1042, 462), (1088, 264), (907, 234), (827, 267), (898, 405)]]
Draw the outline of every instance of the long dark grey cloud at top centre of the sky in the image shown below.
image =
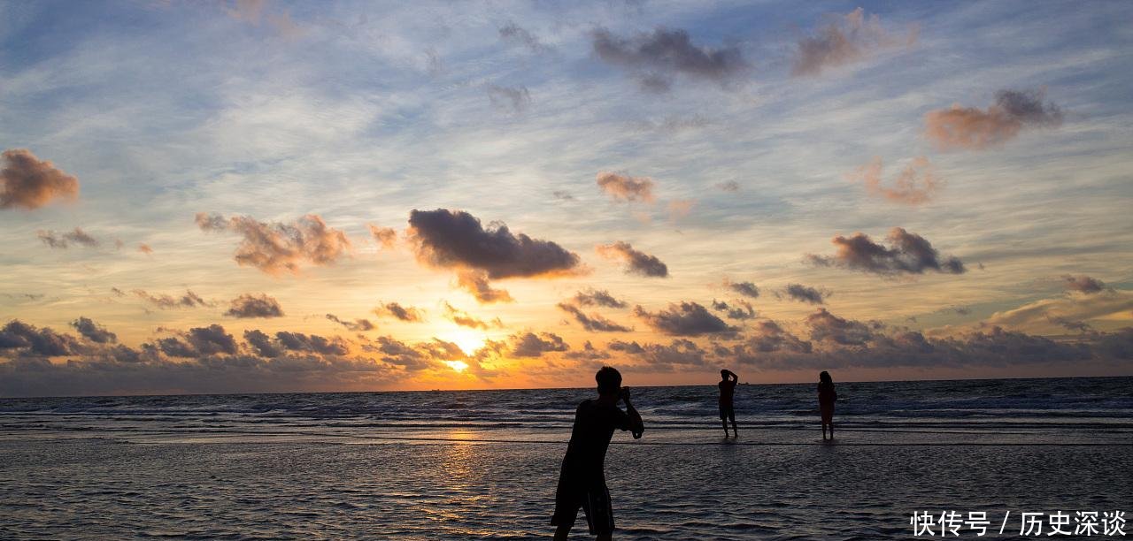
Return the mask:
[(598, 28), (591, 33), (591, 45), (599, 59), (624, 69), (651, 92), (667, 92), (676, 75), (726, 87), (750, 69), (738, 46), (695, 45), (689, 33), (678, 28), (629, 38)]

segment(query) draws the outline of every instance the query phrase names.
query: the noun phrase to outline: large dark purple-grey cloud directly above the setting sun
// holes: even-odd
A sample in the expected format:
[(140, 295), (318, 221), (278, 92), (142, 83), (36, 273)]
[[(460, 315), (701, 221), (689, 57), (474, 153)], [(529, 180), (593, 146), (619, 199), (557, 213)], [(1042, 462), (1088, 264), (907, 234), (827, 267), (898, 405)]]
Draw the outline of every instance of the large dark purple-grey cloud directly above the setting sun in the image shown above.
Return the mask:
[(581, 272), (578, 255), (547, 240), (513, 234), (506, 225), (487, 229), (463, 211), (412, 211), (409, 239), (417, 260), (436, 268), (475, 269), (491, 280), (556, 277)]

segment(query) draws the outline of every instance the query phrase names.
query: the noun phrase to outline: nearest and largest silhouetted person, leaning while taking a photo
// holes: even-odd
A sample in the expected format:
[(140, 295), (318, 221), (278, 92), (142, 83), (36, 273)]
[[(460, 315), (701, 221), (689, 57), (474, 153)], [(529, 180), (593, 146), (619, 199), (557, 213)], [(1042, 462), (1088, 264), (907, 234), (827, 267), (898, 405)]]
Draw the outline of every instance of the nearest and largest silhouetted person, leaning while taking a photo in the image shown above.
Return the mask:
[[(598, 398), (585, 400), (578, 405), (570, 445), (559, 472), (555, 515), (551, 517), (551, 524), (559, 526), (555, 541), (566, 541), (579, 507), (586, 512), (590, 534), (599, 540), (612, 538), (614, 509), (606, 489), (606, 448), (614, 429), (630, 430), (634, 439), (645, 431), (641, 415), (630, 403), (629, 387), (622, 387), (622, 375), (613, 368), (602, 367), (594, 379), (598, 381)], [(617, 407), (619, 400), (625, 402), (625, 411)]]

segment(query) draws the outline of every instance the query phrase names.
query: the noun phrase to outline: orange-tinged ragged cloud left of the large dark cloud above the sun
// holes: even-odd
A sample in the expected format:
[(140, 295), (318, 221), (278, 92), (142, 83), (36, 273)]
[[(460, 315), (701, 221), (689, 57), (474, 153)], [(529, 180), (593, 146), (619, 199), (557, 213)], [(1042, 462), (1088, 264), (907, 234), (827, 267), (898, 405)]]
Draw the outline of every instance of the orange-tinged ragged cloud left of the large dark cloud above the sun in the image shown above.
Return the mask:
[(250, 216), (224, 220), (219, 214), (197, 213), (202, 231), (229, 231), (244, 237), (236, 250), (236, 263), (264, 273), (299, 273), (300, 264), (333, 265), (350, 249), (346, 233), (330, 227), (323, 218), (308, 214), (293, 223), (258, 222)]

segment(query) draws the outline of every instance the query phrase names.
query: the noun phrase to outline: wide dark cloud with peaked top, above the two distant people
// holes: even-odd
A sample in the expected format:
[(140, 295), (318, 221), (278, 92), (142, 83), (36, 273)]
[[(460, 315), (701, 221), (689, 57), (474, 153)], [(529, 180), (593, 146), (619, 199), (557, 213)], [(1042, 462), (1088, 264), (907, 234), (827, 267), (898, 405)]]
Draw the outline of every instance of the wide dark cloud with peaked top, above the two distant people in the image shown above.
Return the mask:
[(927, 239), (902, 227), (893, 227), (886, 241), (889, 243), (888, 248), (874, 242), (863, 233), (855, 233), (849, 239), (837, 235), (832, 240), (837, 247), (837, 254), (808, 255), (807, 260), (813, 265), (880, 275), (923, 274), (926, 270), (963, 274), (966, 270), (960, 259), (942, 259)]

